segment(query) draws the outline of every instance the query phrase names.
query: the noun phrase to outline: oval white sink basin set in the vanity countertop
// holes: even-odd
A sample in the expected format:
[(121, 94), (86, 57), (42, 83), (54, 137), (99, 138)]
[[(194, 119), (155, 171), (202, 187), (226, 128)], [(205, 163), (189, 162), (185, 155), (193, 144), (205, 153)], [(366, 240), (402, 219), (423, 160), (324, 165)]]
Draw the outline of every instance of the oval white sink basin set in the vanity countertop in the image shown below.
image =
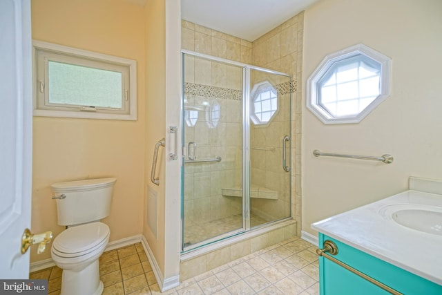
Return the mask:
[(422, 204), (395, 204), (381, 208), (384, 218), (404, 227), (442, 236), (442, 208)]

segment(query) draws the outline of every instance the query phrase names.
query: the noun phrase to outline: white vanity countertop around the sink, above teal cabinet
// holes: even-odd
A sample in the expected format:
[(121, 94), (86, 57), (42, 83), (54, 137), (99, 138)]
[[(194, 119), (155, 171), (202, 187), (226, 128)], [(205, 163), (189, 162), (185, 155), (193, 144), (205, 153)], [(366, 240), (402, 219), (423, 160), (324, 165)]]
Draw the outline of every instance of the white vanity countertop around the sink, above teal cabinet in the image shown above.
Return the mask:
[[(311, 227), (347, 245), (442, 285), (442, 236), (399, 225), (384, 214), (393, 204), (442, 209), (442, 194), (412, 190), (315, 222)], [(433, 183), (434, 184), (434, 183)], [(440, 182), (442, 184), (442, 182)], [(425, 187), (425, 186), (424, 186)], [(431, 187), (431, 186), (430, 186)], [(434, 189), (427, 189), (434, 192)], [(437, 190), (436, 190), (437, 191)], [(439, 192), (440, 193), (440, 192)], [(442, 223), (442, 222), (441, 222)]]

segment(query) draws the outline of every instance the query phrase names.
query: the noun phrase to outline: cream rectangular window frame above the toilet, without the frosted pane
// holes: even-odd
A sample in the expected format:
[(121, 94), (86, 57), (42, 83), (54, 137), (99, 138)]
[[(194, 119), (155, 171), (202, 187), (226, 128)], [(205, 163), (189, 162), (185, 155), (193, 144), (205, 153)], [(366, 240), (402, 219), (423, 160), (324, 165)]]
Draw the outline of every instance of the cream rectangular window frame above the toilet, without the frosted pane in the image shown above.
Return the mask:
[[(48, 62), (122, 73), (122, 108), (51, 104), (48, 89)], [(137, 120), (137, 61), (88, 50), (32, 41), (33, 115), (43, 117), (71, 117), (104, 120)]]

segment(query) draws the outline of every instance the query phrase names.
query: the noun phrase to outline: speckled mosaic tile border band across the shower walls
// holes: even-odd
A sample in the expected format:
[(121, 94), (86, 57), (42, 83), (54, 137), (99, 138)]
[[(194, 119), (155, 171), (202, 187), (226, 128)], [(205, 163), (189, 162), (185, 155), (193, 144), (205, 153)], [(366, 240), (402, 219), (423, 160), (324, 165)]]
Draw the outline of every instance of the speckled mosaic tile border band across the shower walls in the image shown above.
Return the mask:
[[(296, 81), (285, 82), (275, 86), (278, 95), (285, 95), (296, 92)], [(220, 99), (242, 100), (242, 91), (216, 87), (210, 85), (202, 85), (195, 83), (184, 83), (184, 93), (187, 95), (199, 95), (204, 97), (216, 97)]]

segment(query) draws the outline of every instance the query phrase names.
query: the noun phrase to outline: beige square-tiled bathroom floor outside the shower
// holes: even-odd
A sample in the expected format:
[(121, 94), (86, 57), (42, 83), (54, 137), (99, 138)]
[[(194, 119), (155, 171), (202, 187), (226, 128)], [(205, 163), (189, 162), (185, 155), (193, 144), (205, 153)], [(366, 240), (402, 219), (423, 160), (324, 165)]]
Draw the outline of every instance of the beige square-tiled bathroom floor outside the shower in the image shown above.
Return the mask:
[[(186, 280), (164, 294), (319, 294), (315, 250), (314, 245), (294, 237)], [(100, 276), (104, 295), (162, 294), (141, 243), (105, 252), (100, 258)], [(58, 267), (30, 277), (47, 278), (49, 294), (59, 294)]]

